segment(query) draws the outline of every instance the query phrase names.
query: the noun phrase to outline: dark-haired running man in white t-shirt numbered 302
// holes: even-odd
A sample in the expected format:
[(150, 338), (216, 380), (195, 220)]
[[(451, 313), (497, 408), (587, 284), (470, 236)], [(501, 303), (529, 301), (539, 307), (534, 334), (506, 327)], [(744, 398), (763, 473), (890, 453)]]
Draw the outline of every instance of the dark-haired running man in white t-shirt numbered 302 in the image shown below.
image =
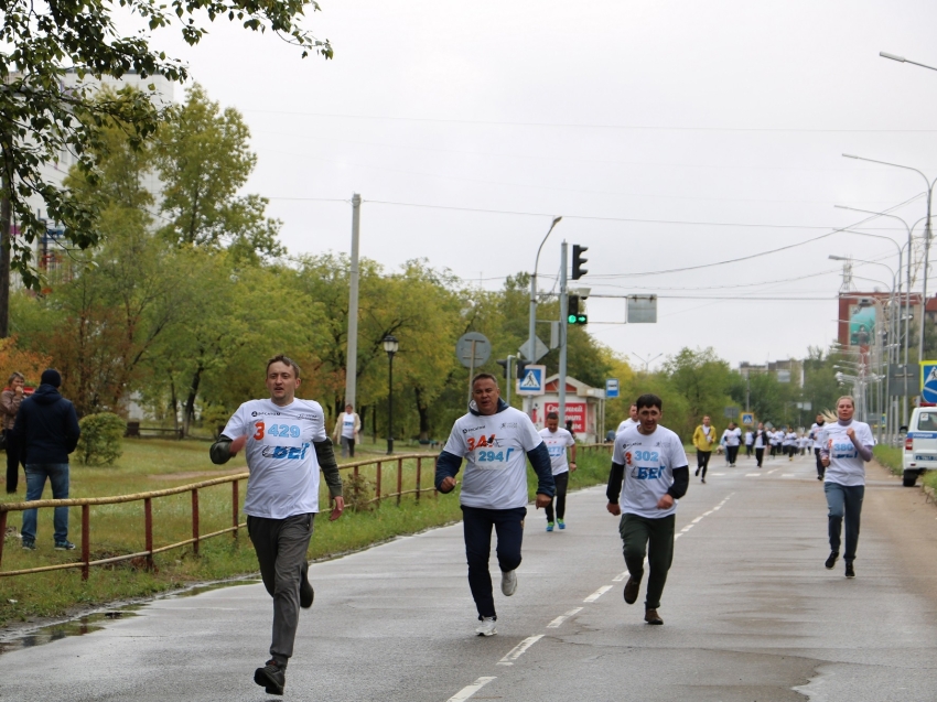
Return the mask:
[(657, 609), (674, 560), (677, 500), (687, 493), (690, 467), (680, 438), (658, 424), (663, 417), (660, 398), (642, 395), (636, 406), (639, 424), (615, 438), (606, 509), (622, 516), (618, 533), (628, 569), (625, 602), (637, 601), (647, 555), (650, 574), (644, 620), (664, 624)]

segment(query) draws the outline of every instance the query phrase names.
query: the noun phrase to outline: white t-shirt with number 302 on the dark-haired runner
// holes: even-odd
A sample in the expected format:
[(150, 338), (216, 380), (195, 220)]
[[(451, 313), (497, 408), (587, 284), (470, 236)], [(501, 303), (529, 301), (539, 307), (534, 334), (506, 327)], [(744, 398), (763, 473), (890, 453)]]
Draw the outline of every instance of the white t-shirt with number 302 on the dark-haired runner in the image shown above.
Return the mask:
[(621, 507), (623, 514), (649, 519), (669, 517), (677, 511), (677, 500), (670, 509), (658, 509), (658, 500), (674, 485), (674, 468), (689, 465), (680, 438), (657, 425), (650, 435), (642, 434), (637, 426), (615, 436), (612, 462), (625, 466)]

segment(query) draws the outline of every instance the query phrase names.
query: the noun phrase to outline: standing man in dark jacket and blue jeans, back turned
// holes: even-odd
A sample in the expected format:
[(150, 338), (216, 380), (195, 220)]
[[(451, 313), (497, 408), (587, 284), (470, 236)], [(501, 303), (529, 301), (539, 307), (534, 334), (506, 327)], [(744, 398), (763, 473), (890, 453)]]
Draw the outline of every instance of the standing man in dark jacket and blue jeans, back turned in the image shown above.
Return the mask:
[[(78, 417), (75, 407), (58, 392), (62, 376), (54, 368), (43, 370), (39, 389), (20, 404), (13, 434), (23, 451), (26, 466), (26, 501), (40, 499), (45, 479), (52, 484), (53, 499), (68, 498), (68, 454), (78, 445)], [(23, 511), (23, 548), (35, 550), (36, 509)], [(68, 508), (55, 508), (55, 549), (71, 551)]]

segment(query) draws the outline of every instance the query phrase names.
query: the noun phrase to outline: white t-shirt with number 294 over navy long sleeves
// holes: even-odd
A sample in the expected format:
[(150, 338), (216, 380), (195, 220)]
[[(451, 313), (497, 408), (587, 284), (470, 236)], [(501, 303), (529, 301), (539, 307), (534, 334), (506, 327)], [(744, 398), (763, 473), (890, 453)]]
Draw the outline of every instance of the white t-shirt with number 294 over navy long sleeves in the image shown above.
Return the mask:
[(460, 503), (485, 509), (527, 505), (527, 452), (542, 441), (530, 418), (513, 407), (455, 420), (443, 451), (467, 460)]

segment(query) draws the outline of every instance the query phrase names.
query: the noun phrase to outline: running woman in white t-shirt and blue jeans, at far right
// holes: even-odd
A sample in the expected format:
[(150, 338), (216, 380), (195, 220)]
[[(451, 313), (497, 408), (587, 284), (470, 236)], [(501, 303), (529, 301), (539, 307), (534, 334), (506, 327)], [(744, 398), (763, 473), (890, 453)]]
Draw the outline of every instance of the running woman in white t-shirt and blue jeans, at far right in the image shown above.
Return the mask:
[(837, 400), (837, 418), (820, 431), (820, 461), (826, 468), (823, 492), (829, 507), (830, 555), (826, 566), (832, 570), (839, 558), (840, 533), (846, 519), (846, 576), (855, 577), (852, 562), (859, 544), (859, 518), (865, 497), (865, 464), (872, 460), (875, 438), (865, 422), (852, 419), (855, 401), (843, 396)]

